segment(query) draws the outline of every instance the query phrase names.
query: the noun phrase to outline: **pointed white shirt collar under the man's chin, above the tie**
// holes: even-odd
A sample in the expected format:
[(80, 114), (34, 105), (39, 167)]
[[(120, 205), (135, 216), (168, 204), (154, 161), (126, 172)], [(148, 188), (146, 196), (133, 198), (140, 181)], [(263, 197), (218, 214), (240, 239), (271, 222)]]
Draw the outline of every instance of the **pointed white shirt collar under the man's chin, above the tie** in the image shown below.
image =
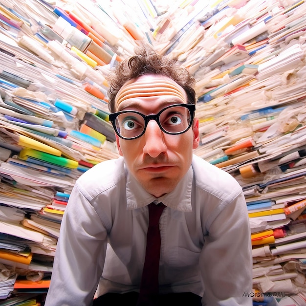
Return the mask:
[(186, 175), (184, 175), (175, 187), (175, 190), (162, 197), (156, 198), (145, 191), (130, 172), (127, 171), (127, 209), (130, 210), (144, 207), (152, 202), (155, 202), (156, 204), (163, 202), (164, 205), (175, 210), (191, 212), (192, 181), (193, 170), (190, 166)]

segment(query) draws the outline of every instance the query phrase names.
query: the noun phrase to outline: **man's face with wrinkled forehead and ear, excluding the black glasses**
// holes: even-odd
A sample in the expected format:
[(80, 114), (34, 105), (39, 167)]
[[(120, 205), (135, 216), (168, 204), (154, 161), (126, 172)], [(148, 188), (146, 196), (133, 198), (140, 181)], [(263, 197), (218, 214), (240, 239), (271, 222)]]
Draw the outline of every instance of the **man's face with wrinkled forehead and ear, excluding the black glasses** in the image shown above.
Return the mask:
[[(116, 111), (151, 115), (177, 103), (187, 103), (184, 89), (168, 77), (150, 74), (127, 82), (116, 96), (115, 107)], [(167, 134), (155, 120), (150, 120), (139, 138), (116, 137), (119, 153), (131, 175), (148, 193), (160, 197), (175, 189), (191, 165), (192, 150), (199, 143), (198, 119), (182, 134)]]

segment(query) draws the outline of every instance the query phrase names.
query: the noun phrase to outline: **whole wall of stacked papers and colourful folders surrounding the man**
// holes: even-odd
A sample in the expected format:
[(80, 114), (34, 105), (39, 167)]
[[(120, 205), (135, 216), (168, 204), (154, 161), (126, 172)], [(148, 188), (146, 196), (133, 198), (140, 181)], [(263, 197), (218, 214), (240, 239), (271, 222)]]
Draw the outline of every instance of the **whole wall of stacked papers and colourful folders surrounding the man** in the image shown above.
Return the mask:
[(243, 188), (254, 289), (305, 305), (304, 1), (70, 2), (0, 3), (0, 297), (47, 287), (75, 180), (118, 157), (107, 75), (145, 45), (196, 78), (194, 153)]

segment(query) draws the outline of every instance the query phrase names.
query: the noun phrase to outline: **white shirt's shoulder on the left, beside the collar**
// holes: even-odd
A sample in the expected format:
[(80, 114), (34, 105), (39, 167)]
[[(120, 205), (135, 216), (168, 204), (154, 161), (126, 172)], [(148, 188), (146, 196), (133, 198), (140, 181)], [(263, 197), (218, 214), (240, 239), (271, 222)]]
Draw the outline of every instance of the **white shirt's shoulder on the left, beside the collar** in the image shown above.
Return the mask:
[(83, 194), (95, 197), (114, 186), (120, 181), (125, 184), (125, 163), (123, 157), (103, 161), (81, 175), (76, 181), (76, 187)]

